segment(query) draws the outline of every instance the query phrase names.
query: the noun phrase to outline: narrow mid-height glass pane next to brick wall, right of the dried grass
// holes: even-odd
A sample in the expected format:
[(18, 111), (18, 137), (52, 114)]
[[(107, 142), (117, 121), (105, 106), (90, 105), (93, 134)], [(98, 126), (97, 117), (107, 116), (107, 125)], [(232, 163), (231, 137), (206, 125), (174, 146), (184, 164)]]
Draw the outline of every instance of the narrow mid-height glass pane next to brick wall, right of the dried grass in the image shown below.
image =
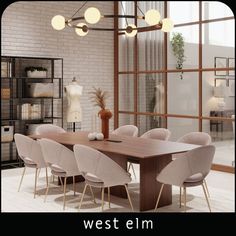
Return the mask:
[(133, 75), (119, 75), (119, 110), (134, 111)]

